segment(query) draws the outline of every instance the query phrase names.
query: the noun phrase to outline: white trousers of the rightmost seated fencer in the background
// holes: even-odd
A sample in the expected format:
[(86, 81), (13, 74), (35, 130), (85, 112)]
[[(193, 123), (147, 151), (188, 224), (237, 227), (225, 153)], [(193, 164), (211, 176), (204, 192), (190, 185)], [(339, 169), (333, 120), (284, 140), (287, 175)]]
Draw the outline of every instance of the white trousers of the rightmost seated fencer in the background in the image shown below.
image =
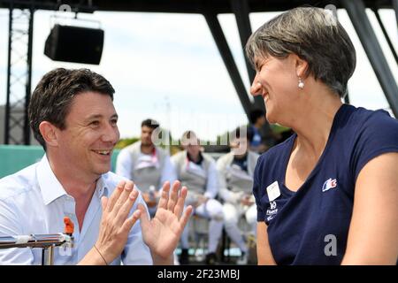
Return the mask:
[(238, 223), (239, 218), (241, 218), (241, 215), (244, 213), (251, 232), (256, 234), (256, 204), (252, 204), (248, 207), (242, 206), (241, 204), (224, 203), (223, 211), (226, 233), (241, 251), (247, 252), (248, 249), (241, 235)]

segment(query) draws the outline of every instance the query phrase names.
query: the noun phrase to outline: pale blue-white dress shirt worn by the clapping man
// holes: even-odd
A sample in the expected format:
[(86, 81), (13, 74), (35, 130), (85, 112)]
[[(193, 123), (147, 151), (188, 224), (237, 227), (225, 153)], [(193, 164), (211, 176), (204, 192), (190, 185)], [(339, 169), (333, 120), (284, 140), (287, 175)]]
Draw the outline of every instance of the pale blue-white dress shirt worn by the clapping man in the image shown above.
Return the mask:
[[(0, 236), (32, 233), (62, 233), (64, 217), (74, 224), (74, 248), (55, 249), (54, 264), (78, 264), (96, 243), (102, 217), (101, 197), (110, 196), (122, 180), (112, 172), (96, 182), (96, 191), (88, 205), (81, 231), (75, 213), (75, 201), (50, 168), (46, 156), (36, 164), (0, 180)], [(144, 204), (141, 194), (138, 203)], [(0, 264), (41, 264), (42, 249), (0, 249)], [(140, 221), (130, 231), (121, 256), (111, 264), (153, 264), (148, 246), (142, 240)]]

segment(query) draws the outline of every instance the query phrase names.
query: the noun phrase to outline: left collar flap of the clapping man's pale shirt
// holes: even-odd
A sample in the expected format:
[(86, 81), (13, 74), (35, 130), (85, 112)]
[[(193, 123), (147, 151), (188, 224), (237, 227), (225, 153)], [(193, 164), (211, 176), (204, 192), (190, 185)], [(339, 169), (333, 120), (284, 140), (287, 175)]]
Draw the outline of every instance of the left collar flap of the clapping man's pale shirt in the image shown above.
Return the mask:
[(56, 175), (52, 172), (47, 155), (42, 157), (36, 170), (37, 181), (39, 183), (42, 200), (45, 205), (54, 202), (58, 197), (67, 195), (64, 187), (62, 187), (61, 183), (57, 180)]

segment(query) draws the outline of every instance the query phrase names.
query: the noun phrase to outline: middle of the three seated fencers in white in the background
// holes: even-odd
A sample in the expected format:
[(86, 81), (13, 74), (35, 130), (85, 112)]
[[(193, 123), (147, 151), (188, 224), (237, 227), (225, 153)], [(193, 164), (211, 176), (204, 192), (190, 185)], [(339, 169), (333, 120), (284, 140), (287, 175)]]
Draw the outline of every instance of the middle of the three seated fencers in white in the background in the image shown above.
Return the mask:
[[(187, 131), (181, 139), (183, 151), (172, 156), (177, 178), (183, 186), (189, 187), (186, 204), (194, 207), (194, 214), (209, 218), (209, 247), (206, 264), (215, 264), (216, 249), (223, 229), (223, 206), (214, 198), (218, 195), (218, 174), (216, 162), (201, 151), (199, 139), (192, 131)], [(188, 264), (188, 230), (186, 226), (181, 236), (180, 264)]]

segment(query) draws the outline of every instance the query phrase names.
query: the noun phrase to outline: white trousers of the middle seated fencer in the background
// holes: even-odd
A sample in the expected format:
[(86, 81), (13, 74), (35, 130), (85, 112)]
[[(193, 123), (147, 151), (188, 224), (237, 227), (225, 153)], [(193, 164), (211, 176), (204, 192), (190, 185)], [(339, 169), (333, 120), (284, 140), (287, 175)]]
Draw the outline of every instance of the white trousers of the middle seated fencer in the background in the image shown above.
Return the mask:
[[(210, 219), (209, 223), (209, 253), (214, 253), (218, 246), (219, 238), (223, 232), (223, 205), (214, 199), (208, 200), (206, 203), (199, 205), (193, 213), (203, 218)], [(185, 227), (181, 235), (181, 248), (188, 249), (189, 223)]]

